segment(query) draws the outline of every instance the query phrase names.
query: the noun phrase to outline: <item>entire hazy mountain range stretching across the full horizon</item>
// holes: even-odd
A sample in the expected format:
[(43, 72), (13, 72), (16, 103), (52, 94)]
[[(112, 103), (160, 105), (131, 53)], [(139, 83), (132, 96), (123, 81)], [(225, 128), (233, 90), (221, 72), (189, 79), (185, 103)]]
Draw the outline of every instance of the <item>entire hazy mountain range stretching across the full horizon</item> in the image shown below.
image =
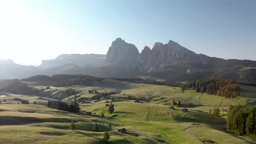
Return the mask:
[(150, 75), (173, 82), (215, 77), (256, 83), (256, 61), (220, 59), (197, 54), (169, 41), (144, 46), (141, 53), (134, 44), (115, 39), (106, 55), (62, 54), (42, 60), (39, 66), (24, 66), (0, 60), (0, 79), (21, 79), (33, 75), (86, 74), (97, 77), (136, 77)]

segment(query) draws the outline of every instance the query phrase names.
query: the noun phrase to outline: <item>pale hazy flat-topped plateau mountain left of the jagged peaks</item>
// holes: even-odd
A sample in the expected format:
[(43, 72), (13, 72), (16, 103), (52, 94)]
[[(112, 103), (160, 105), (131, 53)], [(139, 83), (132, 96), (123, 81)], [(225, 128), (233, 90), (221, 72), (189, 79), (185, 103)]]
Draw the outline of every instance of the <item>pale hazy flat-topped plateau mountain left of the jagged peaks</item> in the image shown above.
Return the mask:
[(94, 65), (104, 66), (106, 55), (100, 54), (62, 54), (56, 59), (42, 60), (40, 69), (49, 69), (66, 64), (75, 64), (78, 66)]

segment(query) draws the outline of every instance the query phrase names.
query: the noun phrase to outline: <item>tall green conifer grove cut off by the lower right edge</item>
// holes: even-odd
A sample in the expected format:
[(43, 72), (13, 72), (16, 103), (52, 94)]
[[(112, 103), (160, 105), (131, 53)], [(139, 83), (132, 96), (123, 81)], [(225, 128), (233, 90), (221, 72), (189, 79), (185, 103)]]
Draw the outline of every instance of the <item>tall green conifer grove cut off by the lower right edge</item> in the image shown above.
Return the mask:
[(228, 130), (256, 137), (256, 105), (230, 105), (226, 121)]

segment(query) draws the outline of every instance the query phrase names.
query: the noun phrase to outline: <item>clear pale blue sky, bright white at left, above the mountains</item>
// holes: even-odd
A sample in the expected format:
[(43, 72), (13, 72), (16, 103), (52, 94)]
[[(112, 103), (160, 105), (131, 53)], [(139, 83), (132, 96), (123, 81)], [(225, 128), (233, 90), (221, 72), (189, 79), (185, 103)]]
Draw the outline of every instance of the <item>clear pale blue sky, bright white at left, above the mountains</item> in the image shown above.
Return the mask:
[(208, 56), (256, 60), (256, 0), (0, 0), (0, 59), (105, 54), (118, 37), (140, 52), (171, 39)]

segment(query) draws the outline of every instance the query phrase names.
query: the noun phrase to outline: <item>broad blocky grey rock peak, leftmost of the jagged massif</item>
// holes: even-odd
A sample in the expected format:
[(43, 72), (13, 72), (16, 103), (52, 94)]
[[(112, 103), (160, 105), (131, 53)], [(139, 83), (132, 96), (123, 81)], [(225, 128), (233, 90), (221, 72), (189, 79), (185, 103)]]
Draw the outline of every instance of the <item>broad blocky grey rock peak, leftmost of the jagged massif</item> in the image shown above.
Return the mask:
[(126, 43), (121, 38), (115, 39), (106, 54), (107, 65), (134, 67), (137, 65), (139, 51), (134, 44)]

